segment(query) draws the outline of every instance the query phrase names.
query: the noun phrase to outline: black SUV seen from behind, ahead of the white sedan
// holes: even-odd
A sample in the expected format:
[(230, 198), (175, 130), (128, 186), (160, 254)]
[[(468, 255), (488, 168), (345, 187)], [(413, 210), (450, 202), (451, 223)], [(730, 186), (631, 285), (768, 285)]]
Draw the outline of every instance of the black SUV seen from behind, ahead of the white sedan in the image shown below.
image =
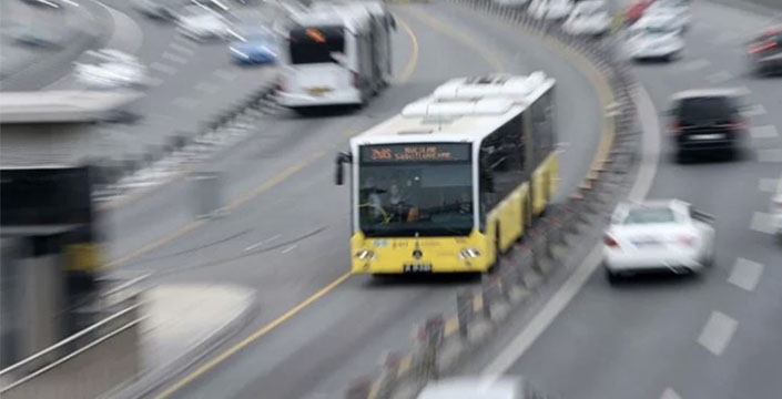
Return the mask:
[(728, 90), (690, 90), (672, 98), (670, 132), (677, 158), (694, 153), (727, 151), (735, 155), (744, 140), (747, 122), (739, 95)]

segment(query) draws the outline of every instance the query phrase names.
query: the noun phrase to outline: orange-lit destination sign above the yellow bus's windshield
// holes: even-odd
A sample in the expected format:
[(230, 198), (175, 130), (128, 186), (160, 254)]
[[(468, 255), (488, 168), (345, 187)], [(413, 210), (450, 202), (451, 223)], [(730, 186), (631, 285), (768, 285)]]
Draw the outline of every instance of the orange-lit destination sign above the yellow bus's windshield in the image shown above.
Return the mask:
[(457, 143), (367, 145), (362, 147), (362, 161), (372, 163), (459, 162), (470, 160), (469, 150), (469, 144)]

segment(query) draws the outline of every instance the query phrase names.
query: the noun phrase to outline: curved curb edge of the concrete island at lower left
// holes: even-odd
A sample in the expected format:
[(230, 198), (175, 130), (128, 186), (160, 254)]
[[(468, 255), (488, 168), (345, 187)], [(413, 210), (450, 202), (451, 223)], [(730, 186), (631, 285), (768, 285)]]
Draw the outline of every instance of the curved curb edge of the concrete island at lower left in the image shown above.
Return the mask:
[(248, 305), (236, 317), (212, 331), (201, 341), (192, 345), (180, 357), (155, 368), (142, 370), (133, 381), (106, 395), (112, 399), (136, 399), (149, 396), (164, 385), (171, 382), (177, 375), (206, 358), (217, 347), (234, 337), (254, 317), (260, 306), (255, 293), (248, 294)]

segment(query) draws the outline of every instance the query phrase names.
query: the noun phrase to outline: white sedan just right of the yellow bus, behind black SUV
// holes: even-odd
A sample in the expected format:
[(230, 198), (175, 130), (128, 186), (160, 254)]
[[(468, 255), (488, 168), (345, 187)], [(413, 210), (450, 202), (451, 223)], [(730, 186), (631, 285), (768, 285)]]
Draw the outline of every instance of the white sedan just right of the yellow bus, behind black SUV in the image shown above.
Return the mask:
[(714, 262), (713, 217), (679, 200), (621, 204), (603, 237), (610, 282), (624, 274), (698, 273)]

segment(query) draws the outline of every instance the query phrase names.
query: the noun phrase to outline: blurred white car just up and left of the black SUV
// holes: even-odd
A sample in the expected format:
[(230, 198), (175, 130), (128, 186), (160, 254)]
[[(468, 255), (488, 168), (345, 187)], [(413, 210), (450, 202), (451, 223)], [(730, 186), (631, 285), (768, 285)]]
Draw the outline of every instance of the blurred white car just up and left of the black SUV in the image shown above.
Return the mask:
[(630, 27), (626, 42), (627, 52), (632, 60), (664, 59), (668, 61), (684, 51), (684, 38), (668, 18), (642, 17)]

